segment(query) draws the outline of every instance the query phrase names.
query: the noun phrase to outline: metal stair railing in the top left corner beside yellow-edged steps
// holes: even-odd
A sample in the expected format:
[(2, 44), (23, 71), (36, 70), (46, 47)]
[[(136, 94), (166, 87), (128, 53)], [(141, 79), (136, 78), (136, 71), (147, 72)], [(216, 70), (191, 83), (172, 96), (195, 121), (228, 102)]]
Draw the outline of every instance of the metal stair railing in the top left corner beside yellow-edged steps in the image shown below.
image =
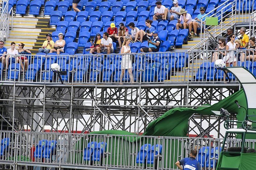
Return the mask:
[[(4, 5), (6, 3), (6, 5)], [(9, 37), (9, 27), (10, 27), (10, 14), (12, 15), (12, 24), (13, 24), (13, 7), (11, 9), (8, 8), (9, 0), (5, 1), (2, 0), (2, 13), (0, 16), (0, 40), (4, 41), (4, 38), (6, 38), (6, 41), (8, 41)], [(11, 25), (12, 30), (12, 25)]]

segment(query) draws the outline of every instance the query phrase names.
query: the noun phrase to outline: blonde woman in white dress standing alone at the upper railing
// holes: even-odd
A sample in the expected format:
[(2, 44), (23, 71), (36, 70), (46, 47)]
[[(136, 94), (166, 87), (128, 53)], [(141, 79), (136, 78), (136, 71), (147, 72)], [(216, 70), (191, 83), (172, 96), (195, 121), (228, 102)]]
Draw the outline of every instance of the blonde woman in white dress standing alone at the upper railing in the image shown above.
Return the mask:
[(125, 69), (128, 69), (128, 73), (130, 75), (130, 80), (131, 80), (131, 82), (133, 82), (131, 48), (129, 46), (130, 43), (131, 43), (131, 40), (129, 38), (126, 38), (124, 40), (123, 44), (122, 44), (122, 48), (121, 48), (121, 51), (120, 51), (121, 54), (125, 54), (125, 55), (123, 55), (122, 62), (121, 62), (122, 73), (121, 73), (121, 76), (120, 76), (120, 84), (122, 84)]

